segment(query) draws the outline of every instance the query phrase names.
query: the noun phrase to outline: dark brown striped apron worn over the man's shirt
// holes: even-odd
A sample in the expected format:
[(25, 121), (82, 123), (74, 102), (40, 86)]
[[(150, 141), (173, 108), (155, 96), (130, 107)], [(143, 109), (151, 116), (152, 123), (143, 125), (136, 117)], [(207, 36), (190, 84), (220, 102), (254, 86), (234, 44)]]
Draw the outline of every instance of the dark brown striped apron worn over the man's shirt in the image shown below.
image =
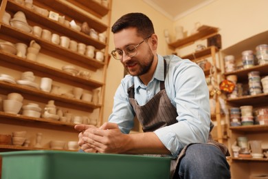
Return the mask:
[[(166, 78), (166, 60), (164, 60), (164, 78)], [(146, 131), (155, 131), (161, 127), (165, 127), (168, 125), (172, 125), (178, 123), (177, 121), (177, 109), (170, 102), (170, 98), (166, 94), (164, 81), (160, 81), (160, 91), (153, 96), (153, 98), (148, 101), (145, 105), (140, 106), (137, 101), (135, 101), (135, 92), (134, 85), (129, 87), (129, 101), (135, 111), (136, 117), (139, 120), (139, 123), (142, 125), (142, 129), (144, 132)], [(210, 130), (213, 127), (213, 124), (210, 123)], [(211, 141), (210, 141), (211, 142)], [(190, 144), (191, 145), (191, 144)], [(227, 148), (220, 143), (216, 143), (212, 141), (212, 145), (216, 145), (219, 147), (224, 154), (227, 153)], [(177, 165), (179, 160), (185, 154), (185, 151), (189, 145), (184, 147), (178, 158), (175, 160), (171, 160), (170, 163), (170, 178), (175, 176), (175, 170), (177, 169)], [(229, 154), (229, 153), (228, 153)], [(167, 155), (150, 155), (150, 156), (167, 156)]]

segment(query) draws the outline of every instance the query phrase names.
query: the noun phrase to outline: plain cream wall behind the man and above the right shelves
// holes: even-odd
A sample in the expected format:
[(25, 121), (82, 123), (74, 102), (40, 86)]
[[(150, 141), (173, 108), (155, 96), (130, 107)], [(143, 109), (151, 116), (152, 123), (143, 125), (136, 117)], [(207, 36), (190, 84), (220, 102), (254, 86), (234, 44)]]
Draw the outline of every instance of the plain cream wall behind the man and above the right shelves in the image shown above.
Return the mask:
[[(167, 0), (168, 1), (168, 0)], [(234, 45), (249, 36), (268, 30), (267, 0), (216, 0), (188, 16), (177, 21), (170, 21), (161, 13), (150, 8), (142, 0), (113, 0), (111, 24), (128, 12), (143, 12), (152, 19), (155, 32), (159, 37), (159, 54), (168, 54), (164, 41), (164, 29), (170, 33), (176, 25), (182, 25), (188, 34), (194, 28), (194, 23), (220, 28), (223, 49)], [(110, 51), (113, 50), (113, 34), (110, 36)], [(104, 121), (107, 120), (113, 106), (113, 94), (123, 77), (123, 67), (119, 61), (111, 59), (108, 67), (107, 88), (104, 104)]]

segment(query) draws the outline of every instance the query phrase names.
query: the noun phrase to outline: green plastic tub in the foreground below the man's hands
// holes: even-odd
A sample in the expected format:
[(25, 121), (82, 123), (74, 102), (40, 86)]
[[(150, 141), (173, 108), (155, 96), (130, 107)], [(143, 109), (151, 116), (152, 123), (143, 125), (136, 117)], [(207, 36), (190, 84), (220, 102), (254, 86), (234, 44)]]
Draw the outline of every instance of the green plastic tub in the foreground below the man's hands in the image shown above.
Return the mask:
[(171, 158), (72, 151), (1, 152), (5, 179), (164, 179)]

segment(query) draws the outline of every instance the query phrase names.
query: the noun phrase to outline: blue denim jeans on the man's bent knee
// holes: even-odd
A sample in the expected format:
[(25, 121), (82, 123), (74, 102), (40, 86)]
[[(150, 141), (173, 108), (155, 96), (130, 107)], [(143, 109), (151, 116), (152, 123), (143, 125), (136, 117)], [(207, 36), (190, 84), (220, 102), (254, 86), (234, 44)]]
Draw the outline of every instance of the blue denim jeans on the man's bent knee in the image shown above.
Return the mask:
[(179, 163), (176, 178), (226, 179), (231, 178), (230, 166), (218, 147), (209, 144), (192, 144)]

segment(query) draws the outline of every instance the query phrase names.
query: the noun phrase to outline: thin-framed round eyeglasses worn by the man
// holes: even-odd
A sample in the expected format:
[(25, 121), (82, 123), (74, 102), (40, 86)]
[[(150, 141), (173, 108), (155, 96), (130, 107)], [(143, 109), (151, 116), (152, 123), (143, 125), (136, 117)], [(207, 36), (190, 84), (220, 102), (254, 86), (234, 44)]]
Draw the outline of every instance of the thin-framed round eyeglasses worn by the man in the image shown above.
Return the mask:
[(146, 39), (144, 39), (142, 42), (138, 43), (137, 45), (126, 46), (124, 50), (119, 50), (119, 49), (113, 50), (111, 51), (111, 55), (113, 56), (115, 60), (121, 60), (123, 58), (123, 53), (129, 57), (133, 57), (137, 54), (137, 47), (139, 47), (139, 45), (144, 43), (144, 41), (147, 41), (150, 38), (150, 36), (148, 36)]

